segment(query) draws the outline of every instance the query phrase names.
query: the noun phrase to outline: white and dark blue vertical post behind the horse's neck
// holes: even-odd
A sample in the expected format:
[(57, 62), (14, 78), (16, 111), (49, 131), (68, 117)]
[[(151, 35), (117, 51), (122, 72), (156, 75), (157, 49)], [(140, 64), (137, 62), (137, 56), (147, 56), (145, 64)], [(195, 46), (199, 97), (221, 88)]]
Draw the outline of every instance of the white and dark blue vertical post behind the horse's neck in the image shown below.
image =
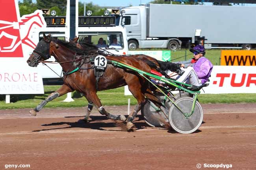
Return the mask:
[[(78, 36), (78, 0), (67, 0), (66, 28), (66, 41)], [(67, 98), (63, 102), (73, 102), (71, 94), (67, 93)]]

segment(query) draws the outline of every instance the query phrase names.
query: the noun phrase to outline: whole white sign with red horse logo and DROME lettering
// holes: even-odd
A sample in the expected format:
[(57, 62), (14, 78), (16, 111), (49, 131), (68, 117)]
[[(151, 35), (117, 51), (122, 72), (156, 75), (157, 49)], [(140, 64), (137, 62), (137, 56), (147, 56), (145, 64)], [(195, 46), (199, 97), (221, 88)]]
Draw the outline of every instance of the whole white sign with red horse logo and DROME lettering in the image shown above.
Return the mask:
[(46, 27), (43, 12), (20, 17), (17, 0), (2, 2), (9, 15), (0, 15), (0, 94), (43, 94), (41, 75), (26, 62)]

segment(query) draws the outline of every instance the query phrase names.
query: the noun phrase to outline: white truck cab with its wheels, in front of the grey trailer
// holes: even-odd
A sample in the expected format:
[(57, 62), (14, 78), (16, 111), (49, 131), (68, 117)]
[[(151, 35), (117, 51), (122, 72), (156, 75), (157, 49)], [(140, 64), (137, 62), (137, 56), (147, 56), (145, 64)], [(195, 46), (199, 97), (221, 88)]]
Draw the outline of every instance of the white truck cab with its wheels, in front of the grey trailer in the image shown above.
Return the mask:
[(159, 32), (159, 35), (150, 34), (153, 30), (149, 23), (154, 22), (154, 20), (161, 20), (161, 18), (150, 17), (149, 9), (150, 7), (147, 6), (132, 6), (121, 9), (119, 26), (126, 27), (129, 50), (135, 50), (136, 48), (168, 48), (176, 50), (181, 48), (182, 41), (178, 38), (170, 38), (161, 32)]

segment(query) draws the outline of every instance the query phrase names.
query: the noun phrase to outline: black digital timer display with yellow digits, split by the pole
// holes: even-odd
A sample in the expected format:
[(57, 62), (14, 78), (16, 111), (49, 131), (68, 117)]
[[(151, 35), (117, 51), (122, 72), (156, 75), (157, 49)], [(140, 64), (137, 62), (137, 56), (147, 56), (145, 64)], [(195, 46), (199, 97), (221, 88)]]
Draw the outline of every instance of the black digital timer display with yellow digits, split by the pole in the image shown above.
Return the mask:
[[(45, 16), (47, 27), (65, 27), (65, 16)], [(115, 16), (79, 16), (79, 27), (115, 26)]]

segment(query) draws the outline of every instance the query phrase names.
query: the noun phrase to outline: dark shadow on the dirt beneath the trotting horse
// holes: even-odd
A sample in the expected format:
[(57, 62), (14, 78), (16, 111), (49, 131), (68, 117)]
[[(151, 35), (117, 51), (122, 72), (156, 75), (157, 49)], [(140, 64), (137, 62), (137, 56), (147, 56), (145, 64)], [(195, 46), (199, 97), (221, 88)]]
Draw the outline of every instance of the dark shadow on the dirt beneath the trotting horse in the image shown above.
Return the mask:
[[(81, 117), (83, 116), (67, 116), (65, 118), (72, 118), (72, 117)], [(60, 125), (69, 125), (68, 127), (61, 127), (61, 128), (47, 128), (47, 129), (41, 129), (41, 130), (33, 130), (32, 132), (41, 132), (41, 131), (48, 131), (48, 130), (59, 130), (59, 129), (70, 129), (70, 128), (87, 128), (87, 129), (95, 129), (95, 130), (104, 130), (104, 131), (124, 131), (124, 128), (126, 124), (121, 121), (112, 121), (112, 122), (105, 122), (105, 120), (108, 120), (106, 116), (90, 116), (91, 120), (88, 122), (83, 121), (82, 119), (76, 121), (76, 122), (52, 122), (50, 124), (41, 124), (41, 126), (60, 126)], [(141, 120), (141, 118), (139, 118)], [(139, 121), (137, 120), (137, 121)], [(136, 127), (136, 130), (147, 128), (145, 127), (145, 122), (137, 122), (134, 121), (134, 125)], [(121, 129), (104, 129), (104, 128), (115, 128), (115, 127), (121, 127)]]

